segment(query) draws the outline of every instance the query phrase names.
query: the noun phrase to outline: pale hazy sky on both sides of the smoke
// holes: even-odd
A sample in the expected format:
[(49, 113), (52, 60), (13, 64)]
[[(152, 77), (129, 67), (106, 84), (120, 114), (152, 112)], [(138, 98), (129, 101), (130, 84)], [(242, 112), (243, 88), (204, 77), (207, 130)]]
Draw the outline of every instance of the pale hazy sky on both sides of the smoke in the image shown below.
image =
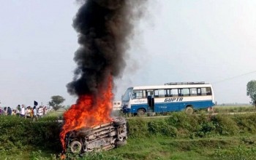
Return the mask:
[[(64, 105), (76, 64), (75, 1), (0, 0), (0, 102)], [(256, 79), (256, 1), (148, 0), (129, 39), (127, 65), (115, 80), (115, 100), (127, 87), (206, 81), (215, 101), (249, 103), (246, 84)]]

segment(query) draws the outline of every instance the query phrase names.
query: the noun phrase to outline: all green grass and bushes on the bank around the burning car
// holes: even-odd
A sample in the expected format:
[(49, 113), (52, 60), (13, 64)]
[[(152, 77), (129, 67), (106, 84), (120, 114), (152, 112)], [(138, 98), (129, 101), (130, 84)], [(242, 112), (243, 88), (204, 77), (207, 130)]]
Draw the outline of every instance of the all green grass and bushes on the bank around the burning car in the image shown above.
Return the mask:
[[(127, 119), (127, 145), (83, 156), (67, 152), (66, 159), (255, 159), (256, 113), (222, 109), (217, 115), (135, 116)], [(0, 159), (60, 159), (60, 115), (52, 111), (36, 122), (0, 116)]]

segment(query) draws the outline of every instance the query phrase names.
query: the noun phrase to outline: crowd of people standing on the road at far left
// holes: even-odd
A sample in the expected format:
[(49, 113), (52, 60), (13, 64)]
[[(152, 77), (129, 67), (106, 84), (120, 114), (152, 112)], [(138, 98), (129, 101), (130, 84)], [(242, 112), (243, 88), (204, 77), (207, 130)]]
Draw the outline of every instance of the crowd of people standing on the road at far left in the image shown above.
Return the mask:
[(25, 106), (25, 105), (18, 105), (16, 109), (12, 109), (10, 107), (0, 107), (0, 115), (4, 116), (20, 116), (25, 119), (38, 119), (42, 116), (45, 116), (48, 113), (48, 108), (46, 106), (34, 106), (33, 108), (31, 106)]

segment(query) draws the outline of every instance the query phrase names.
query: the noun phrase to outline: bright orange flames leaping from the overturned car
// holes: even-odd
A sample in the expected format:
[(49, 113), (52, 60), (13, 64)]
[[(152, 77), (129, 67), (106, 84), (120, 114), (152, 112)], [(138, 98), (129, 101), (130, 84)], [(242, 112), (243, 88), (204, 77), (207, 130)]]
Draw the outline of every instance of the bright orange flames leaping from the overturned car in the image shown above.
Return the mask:
[(108, 79), (107, 89), (99, 87), (97, 97), (93, 95), (81, 95), (77, 104), (72, 105), (64, 113), (64, 126), (60, 133), (61, 143), (66, 150), (65, 135), (67, 132), (80, 129), (82, 127), (95, 127), (99, 124), (112, 121), (110, 113), (112, 111), (112, 76)]

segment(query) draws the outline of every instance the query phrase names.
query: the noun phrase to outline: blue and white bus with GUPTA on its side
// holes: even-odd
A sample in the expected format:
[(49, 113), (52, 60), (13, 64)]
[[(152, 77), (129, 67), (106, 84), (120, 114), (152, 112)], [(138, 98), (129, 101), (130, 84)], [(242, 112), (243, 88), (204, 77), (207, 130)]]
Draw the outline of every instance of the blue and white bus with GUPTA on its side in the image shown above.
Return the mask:
[(121, 97), (121, 111), (128, 114), (167, 113), (214, 106), (211, 84), (199, 82), (170, 82), (159, 86), (129, 87)]

